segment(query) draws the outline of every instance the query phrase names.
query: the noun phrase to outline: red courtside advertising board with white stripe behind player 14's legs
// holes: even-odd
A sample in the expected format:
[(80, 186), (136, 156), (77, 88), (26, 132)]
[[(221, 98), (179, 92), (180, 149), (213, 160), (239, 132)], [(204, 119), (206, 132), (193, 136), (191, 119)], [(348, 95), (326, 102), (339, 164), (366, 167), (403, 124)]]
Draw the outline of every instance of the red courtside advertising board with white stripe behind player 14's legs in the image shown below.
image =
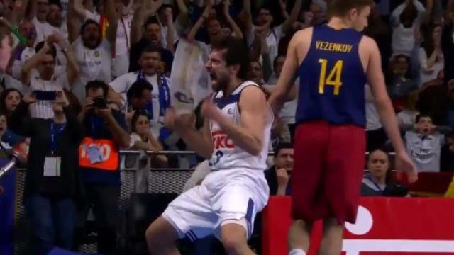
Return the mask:
[[(262, 254), (288, 254), (291, 202), (270, 198), (263, 211)], [(357, 222), (345, 226), (343, 254), (454, 254), (453, 211), (450, 198), (362, 198)], [(316, 222), (309, 254), (316, 254), (320, 240)]]

